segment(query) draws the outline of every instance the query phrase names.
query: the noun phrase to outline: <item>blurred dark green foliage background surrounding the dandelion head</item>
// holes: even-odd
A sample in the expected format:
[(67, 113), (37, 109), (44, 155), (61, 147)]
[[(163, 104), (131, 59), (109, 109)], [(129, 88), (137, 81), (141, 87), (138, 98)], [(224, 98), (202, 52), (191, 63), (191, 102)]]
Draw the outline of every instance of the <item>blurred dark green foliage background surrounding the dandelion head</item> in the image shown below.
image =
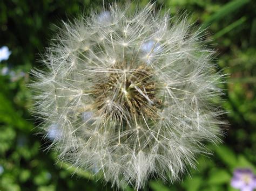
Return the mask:
[[(141, 6), (147, 2), (138, 1)], [(0, 70), (8, 67), (17, 75), (40, 67), (38, 55), (55, 33), (53, 24), (101, 6), (101, 0), (1, 1), (0, 47), (8, 46), (12, 54), (0, 63)], [(199, 156), (198, 169), (190, 169), (183, 181), (152, 179), (145, 190), (235, 190), (230, 186), (235, 168), (256, 173), (256, 4), (252, 0), (159, 0), (157, 7), (170, 9), (171, 15), (187, 10), (201, 29), (211, 33), (219, 69), (229, 74), (222, 105), (229, 111), (224, 118), (230, 125), (224, 129), (224, 144), (208, 145), (214, 155)], [(28, 79), (28, 74), (15, 78), (14, 72), (0, 71), (0, 190), (112, 190), (110, 183), (56, 164), (55, 153), (43, 151), (49, 140), (35, 135), (38, 122), (28, 111)]]

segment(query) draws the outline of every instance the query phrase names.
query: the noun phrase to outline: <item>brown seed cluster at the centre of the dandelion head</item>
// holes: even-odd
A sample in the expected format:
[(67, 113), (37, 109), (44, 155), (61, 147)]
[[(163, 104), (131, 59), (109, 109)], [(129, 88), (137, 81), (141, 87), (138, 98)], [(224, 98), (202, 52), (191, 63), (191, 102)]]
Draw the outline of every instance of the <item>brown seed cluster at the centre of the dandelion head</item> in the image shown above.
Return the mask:
[[(129, 118), (139, 119), (142, 115), (146, 118), (157, 118), (156, 112), (161, 104), (156, 96), (159, 88), (152, 69), (144, 62), (139, 65), (127, 61), (117, 62), (103, 79), (93, 89), (93, 108), (107, 117), (120, 119), (119, 114), (108, 114), (105, 107), (106, 104), (115, 104), (129, 114)], [(122, 118), (125, 119), (128, 118)]]

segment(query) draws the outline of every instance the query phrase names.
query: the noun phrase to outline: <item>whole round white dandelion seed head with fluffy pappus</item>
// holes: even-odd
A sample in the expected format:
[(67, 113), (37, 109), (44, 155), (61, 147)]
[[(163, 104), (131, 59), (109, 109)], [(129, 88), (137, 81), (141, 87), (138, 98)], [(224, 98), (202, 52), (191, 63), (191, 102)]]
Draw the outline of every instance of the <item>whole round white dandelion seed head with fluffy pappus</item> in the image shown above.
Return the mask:
[(161, 16), (152, 4), (63, 23), (31, 84), (59, 159), (136, 189), (196, 167), (224, 124), (213, 101), (222, 76), (203, 39), (187, 17)]

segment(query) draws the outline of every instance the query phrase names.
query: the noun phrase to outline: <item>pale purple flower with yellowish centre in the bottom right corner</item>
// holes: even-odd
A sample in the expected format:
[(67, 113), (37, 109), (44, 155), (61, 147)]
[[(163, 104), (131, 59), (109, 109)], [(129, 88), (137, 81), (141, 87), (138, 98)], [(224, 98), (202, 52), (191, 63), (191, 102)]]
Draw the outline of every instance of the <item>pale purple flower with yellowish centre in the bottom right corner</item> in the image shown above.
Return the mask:
[(241, 191), (253, 191), (256, 188), (256, 176), (251, 169), (235, 169), (231, 186)]

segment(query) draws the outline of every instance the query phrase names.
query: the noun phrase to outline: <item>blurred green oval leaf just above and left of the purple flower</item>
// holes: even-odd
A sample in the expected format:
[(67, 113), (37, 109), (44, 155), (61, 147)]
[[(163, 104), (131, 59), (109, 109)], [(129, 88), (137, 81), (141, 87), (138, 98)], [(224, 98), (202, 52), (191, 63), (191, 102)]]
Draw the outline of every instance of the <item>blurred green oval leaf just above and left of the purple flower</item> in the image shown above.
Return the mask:
[(237, 158), (235, 157), (234, 152), (227, 146), (221, 145), (216, 148), (216, 154), (219, 158), (229, 167), (234, 167), (237, 165)]

